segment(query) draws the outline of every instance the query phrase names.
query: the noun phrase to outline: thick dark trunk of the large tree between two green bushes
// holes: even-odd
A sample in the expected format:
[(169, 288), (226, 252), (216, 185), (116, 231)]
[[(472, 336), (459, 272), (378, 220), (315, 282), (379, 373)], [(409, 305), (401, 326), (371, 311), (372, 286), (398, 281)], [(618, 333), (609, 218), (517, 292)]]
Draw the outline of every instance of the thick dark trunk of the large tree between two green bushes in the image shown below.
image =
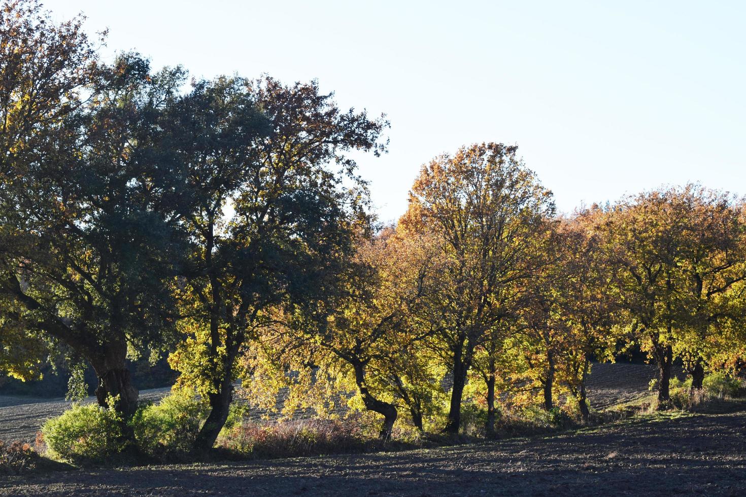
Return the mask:
[[(122, 413), (125, 420), (129, 419), (137, 411), (140, 393), (132, 384), (127, 367), (127, 342), (107, 342), (92, 351), (88, 359), (98, 379), (95, 390), (98, 405), (114, 408)], [(110, 397), (115, 399), (113, 405), (109, 405)]]

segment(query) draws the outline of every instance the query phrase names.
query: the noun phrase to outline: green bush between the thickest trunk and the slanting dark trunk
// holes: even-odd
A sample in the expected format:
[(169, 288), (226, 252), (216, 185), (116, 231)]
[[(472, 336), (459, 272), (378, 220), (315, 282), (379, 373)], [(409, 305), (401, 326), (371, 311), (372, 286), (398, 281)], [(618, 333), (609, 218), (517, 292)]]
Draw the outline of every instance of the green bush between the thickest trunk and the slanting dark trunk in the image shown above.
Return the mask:
[(181, 459), (191, 452), (206, 417), (207, 408), (194, 394), (177, 391), (142, 406), (131, 425), (142, 452), (160, 460)]

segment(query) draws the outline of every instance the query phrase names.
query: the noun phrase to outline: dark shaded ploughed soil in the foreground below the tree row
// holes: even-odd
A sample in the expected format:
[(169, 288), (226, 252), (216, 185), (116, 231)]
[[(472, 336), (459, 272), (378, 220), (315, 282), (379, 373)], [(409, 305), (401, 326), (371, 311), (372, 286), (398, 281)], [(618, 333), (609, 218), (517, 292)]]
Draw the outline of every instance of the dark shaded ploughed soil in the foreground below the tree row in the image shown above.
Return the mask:
[(744, 496), (746, 411), (371, 455), (55, 472), (3, 496)]

